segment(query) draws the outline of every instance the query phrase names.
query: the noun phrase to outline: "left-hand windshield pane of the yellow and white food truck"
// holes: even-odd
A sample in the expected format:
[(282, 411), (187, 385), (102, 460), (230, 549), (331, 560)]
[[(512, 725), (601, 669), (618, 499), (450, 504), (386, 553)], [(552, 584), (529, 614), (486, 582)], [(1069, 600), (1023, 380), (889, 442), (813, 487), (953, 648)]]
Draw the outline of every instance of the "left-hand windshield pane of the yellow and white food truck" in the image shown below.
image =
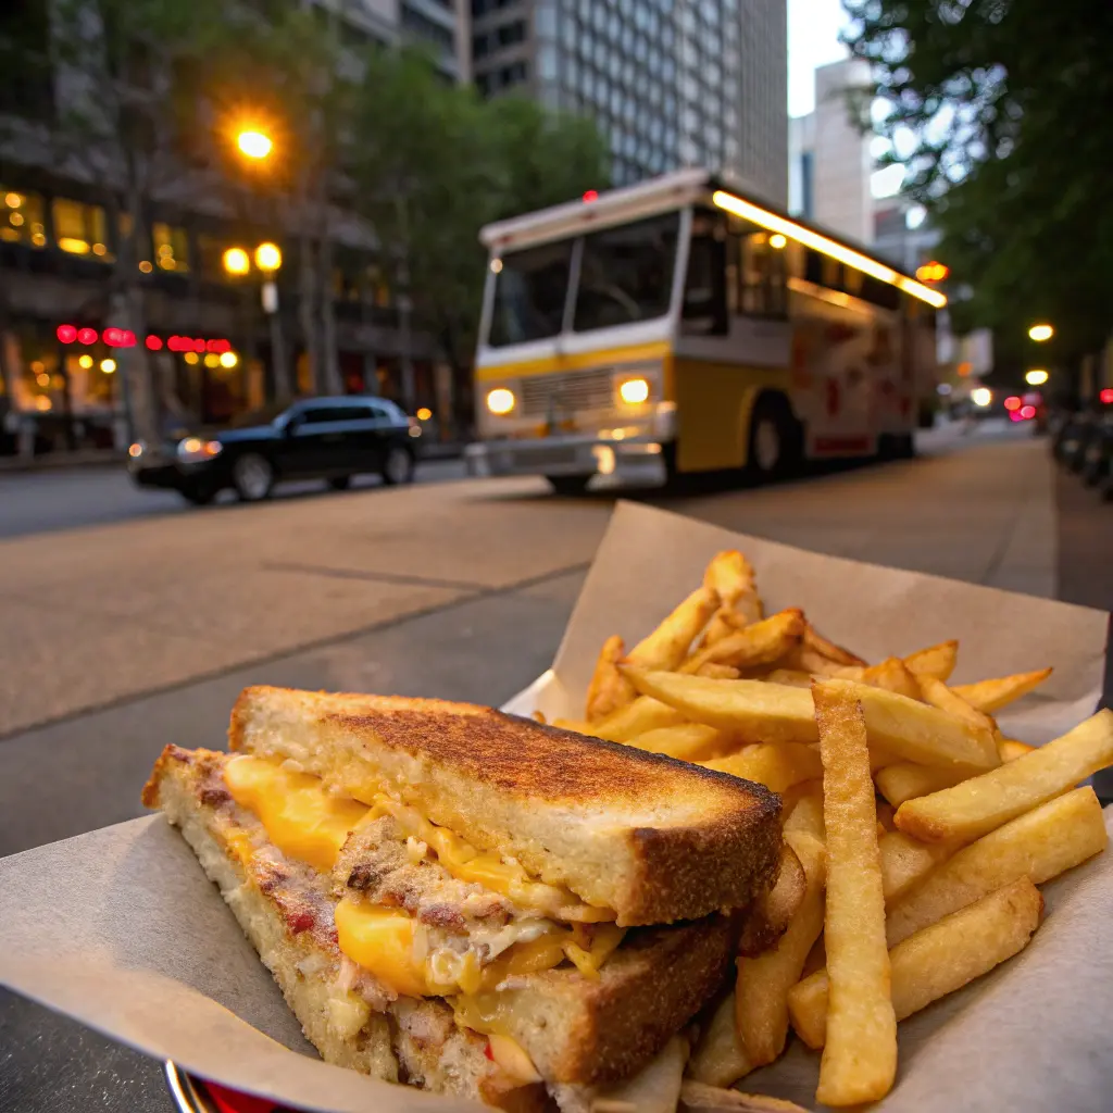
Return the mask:
[(492, 347), (555, 336), (564, 318), (572, 240), (508, 252), (495, 277)]

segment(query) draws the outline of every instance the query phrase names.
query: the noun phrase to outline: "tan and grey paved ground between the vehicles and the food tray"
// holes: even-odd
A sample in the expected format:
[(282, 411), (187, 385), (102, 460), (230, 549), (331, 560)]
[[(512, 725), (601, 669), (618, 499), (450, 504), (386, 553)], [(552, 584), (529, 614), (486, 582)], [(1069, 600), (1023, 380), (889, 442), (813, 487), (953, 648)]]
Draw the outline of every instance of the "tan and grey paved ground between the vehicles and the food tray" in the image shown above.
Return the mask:
[[(457, 480), (204, 511), (114, 471), (0, 479), (0, 855), (139, 815), (162, 746), (220, 747), (245, 684), (498, 705), (545, 669), (613, 498), (426, 466)], [(1044, 441), (984, 427), (933, 431), (909, 462), (651, 499), (1107, 609), (1113, 515), (1076, 486)], [(170, 1107), (156, 1064), (9, 996), (0, 1048), (0, 1109)]]

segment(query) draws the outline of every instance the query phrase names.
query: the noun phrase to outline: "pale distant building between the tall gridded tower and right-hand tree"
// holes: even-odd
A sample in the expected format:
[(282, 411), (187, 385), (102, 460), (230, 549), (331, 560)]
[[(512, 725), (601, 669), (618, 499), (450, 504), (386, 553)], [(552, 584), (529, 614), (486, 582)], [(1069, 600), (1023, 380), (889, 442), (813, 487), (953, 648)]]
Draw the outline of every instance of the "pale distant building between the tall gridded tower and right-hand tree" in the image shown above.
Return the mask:
[(789, 122), (789, 208), (797, 216), (868, 244), (874, 238), (871, 136), (853, 115), (855, 90), (869, 87), (856, 59), (816, 70), (816, 108)]

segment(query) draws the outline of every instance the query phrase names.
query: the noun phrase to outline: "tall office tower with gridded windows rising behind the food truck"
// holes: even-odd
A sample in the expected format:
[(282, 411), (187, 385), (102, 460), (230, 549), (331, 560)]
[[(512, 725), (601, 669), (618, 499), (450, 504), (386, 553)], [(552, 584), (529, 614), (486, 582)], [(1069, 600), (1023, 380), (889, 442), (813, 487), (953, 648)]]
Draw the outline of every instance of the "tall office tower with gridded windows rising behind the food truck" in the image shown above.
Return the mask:
[(591, 116), (615, 185), (682, 166), (787, 194), (785, 0), (472, 0), (472, 73)]

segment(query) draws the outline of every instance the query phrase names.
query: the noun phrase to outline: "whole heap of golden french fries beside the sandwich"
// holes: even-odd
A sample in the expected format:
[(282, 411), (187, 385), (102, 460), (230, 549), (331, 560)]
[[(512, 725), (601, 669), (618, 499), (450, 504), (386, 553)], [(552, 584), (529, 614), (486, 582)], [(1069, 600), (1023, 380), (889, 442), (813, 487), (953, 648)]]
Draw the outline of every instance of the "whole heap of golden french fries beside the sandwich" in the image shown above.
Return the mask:
[(993, 713), (1052, 670), (949, 686), (957, 652), (868, 664), (800, 610), (765, 617), (747, 560), (721, 552), (629, 653), (608, 639), (583, 721), (554, 722), (782, 797), (780, 874), (698, 1026), (687, 1090), (772, 1063), (791, 1027), (821, 1051), (817, 1102), (884, 1097), (897, 1022), (1022, 951), (1036, 886), (1105, 848), (1077, 786), (1113, 765), (1113, 712), (1040, 748), (1005, 738)]

